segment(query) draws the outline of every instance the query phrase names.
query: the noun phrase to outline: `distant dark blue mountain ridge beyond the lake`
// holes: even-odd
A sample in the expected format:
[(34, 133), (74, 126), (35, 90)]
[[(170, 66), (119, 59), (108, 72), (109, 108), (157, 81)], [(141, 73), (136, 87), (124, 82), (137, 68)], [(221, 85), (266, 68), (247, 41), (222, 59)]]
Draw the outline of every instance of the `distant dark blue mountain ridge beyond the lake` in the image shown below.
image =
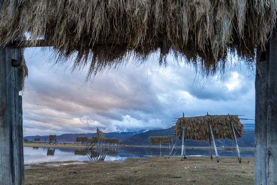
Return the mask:
[[(120, 142), (123, 141), (128, 145), (147, 145), (149, 143), (150, 136), (172, 136), (173, 143), (176, 141), (176, 137), (174, 134), (174, 130), (172, 129), (160, 129), (160, 130), (140, 130), (137, 132), (112, 132), (112, 133), (104, 133), (106, 138), (116, 138), (119, 139)], [(63, 134), (61, 136), (57, 136), (57, 142), (74, 142), (76, 137), (88, 137), (96, 136), (96, 133), (87, 133), (87, 134)], [(35, 137), (41, 138), (41, 141), (48, 140), (49, 136), (25, 136), (25, 139), (33, 141)], [(244, 135), (244, 139), (247, 143), (254, 147), (254, 134)], [(243, 139), (239, 139), (240, 147), (247, 147), (247, 144)], [(215, 140), (216, 146), (224, 146), (224, 147), (235, 147), (234, 141), (230, 139), (220, 139)], [(178, 140), (176, 145), (181, 145), (182, 140)], [(185, 142), (186, 146), (209, 146), (209, 141), (194, 141), (187, 139)], [(164, 144), (166, 145), (166, 144)]]

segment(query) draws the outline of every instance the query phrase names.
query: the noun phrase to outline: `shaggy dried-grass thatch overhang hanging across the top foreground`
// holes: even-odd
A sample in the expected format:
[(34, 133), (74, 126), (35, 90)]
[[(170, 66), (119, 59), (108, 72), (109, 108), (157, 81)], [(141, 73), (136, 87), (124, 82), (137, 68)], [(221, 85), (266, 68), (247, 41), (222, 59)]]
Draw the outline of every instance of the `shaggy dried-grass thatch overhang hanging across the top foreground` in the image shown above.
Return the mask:
[[(276, 22), (273, 0), (2, 0), (0, 44), (52, 46), (57, 59), (74, 57), (88, 77), (173, 53), (204, 73), (222, 69), (228, 53), (253, 61)], [(27, 34), (26, 34), (27, 33)], [(28, 35), (28, 42), (26, 40)], [(43, 41), (41, 41), (42, 39)], [(178, 60), (179, 61), (179, 60)], [(58, 62), (58, 61), (57, 61)]]

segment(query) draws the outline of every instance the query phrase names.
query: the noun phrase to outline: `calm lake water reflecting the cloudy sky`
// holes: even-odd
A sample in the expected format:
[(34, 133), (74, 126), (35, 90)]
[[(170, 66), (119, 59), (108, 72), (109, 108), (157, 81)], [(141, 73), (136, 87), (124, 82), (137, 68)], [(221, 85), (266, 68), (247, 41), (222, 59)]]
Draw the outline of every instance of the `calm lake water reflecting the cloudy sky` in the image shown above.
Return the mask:
[[(145, 147), (110, 147), (108, 151), (100, 149), (85, 152), (82, 149), (60, 149), (48, 147), (24, 147), (24, 163), (33, 164), (52, 161), (114, 161), (124, 160), (126, 158), (149, 157), (149, 156), (169, 156), (169, 149), (160, 147), (150, 148)], [(219, 157), (234, 157), (237, 156), (235, 151), (217, 150)], [(209, 149), (186, 149), (187, 157), (203, 156), (209, 157)], [(215, 156), (213, 151), (213, 156)], [(251, 151), (241, 151), (242, 157), (254, 157)], [(174, 149), (171, 157), (181, 157), (181, 149)]]

